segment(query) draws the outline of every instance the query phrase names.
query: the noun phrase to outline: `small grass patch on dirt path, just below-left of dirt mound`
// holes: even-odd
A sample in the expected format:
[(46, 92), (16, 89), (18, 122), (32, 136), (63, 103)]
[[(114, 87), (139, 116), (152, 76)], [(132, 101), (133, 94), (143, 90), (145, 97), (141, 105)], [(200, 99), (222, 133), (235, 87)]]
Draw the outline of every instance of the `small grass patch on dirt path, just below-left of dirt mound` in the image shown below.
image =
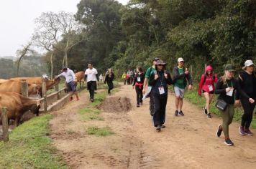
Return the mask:
[(92, 108), (83, 108), (80, 110), (81, 118), (83, 121), (89, 120), (104, 120), (103, 117), (99, 116), (101, 110)]

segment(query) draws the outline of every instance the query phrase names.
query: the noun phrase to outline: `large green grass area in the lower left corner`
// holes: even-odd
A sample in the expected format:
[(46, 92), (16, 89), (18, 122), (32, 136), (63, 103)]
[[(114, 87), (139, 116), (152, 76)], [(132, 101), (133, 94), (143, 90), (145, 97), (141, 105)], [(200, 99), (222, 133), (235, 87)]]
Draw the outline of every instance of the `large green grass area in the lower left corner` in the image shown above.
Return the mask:
[(47, 137), (51, 118), (43, 115), (16, 127), (9, 142), (0, 143), (1, 168), (68, 168)]

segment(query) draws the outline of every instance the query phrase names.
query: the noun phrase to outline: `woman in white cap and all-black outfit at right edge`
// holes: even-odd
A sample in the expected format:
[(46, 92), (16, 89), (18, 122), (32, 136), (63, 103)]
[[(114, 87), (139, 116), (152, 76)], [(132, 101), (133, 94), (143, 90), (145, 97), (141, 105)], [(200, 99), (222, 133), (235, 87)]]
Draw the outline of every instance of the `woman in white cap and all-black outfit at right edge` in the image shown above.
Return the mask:
[[(244, 71), (239, 74), (238, 81), (243, 90), (252, 100), (256, 100), (256, 74), (254, 72), (254, 64), (252, 60), (247, 60), (244, 62)], [(250, 102), (246, 97), (236, 95), (236, 102), (242, 103), (244, 109), (244, 114), (242, 115), (241, 126), (239, 126), (240, 135), (253, 135), (249, 127), (252, 122), (253, 111), (255, 110), (255, 102)]]

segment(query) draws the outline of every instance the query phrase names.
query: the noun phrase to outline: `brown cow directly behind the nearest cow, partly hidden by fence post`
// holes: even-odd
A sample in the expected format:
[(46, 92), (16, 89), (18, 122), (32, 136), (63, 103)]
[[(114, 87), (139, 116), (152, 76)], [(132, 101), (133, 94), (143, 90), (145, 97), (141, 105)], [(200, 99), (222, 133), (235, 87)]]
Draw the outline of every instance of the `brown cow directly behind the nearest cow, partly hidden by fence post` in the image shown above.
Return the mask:
[[(29, 95), (35, 95), (40, 90), (40, 86), (35, 83), (28, 83), (27, 90)], [(0, 92), (17, 92), (22, 94), (22, 82), (12, 79), (0, 82)]]

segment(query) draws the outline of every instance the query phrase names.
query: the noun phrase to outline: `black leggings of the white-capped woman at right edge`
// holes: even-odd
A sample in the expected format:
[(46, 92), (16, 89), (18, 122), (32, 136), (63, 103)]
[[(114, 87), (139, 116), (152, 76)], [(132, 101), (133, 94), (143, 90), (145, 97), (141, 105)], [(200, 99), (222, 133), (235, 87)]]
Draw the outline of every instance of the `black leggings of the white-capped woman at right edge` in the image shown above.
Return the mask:
[(248, 129), (252, 122), (253, 110), (255, 109), (255, 102), (251, 104), (245, 97), (240, 98), (242, 107), (244, 109), (244, 115), (242, 115), (241, 126)]

